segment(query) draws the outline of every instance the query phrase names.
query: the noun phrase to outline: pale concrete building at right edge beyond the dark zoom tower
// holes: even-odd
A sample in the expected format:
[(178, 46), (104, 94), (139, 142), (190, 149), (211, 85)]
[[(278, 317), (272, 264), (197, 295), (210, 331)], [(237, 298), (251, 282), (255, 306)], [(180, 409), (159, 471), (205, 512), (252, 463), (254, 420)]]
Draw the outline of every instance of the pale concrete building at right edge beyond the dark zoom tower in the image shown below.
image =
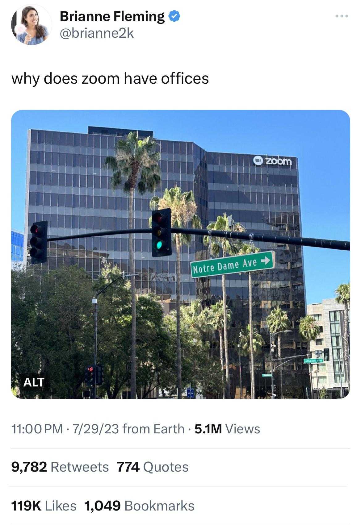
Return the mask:
[[(348, 393), (343, 363), (344, 309), (335, 299), (324, 299), (307, 305), (307, 314), (313, 316), (320, 328), (319, 337), (310, 343), (312, 358), (324, 362), (312, 366), (314, 395), (325, 387), (329, 397), (344, 397)], [(348, 313), (350, 320), (350, 313)], [(349, 345), (350, 348), (350, 345)], [(325, 351), (326, 350), (326, 351)], [(325, 361), (329, 355), (329, 361)]]

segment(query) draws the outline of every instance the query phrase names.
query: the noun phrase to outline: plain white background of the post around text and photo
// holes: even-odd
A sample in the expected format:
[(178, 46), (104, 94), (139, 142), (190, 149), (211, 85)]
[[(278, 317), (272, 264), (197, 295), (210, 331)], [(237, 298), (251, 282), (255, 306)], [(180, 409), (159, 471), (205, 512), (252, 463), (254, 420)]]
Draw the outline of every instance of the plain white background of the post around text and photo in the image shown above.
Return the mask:
[[(38, 46), (19, 46), (12, 36), (10, 20), (18, 7), (13, 2), (3, 7), (3, 48), (7, 51), (2, 71), (4, 221), (10, 217), (11, 117), (17, 110), (35, 108), (341, 109), (349, 114), (351, 121), (352, 200), (356, 198), (360, 143), (356, 46), (359, 46), (360, 13), (355, 2), (51, 2), (45, 7), (53, 19), (53, 30), (46, 42)], [(59, 22), (60, 9), (112, 13), (115, 8), (128, 12), (164, 11), (166, 22), (163, 25)], [(181, 13), (177, 23), (168, 20), (172, 9)], [(336, 18), (336, 14), (348, 14), (348, 17)], [(63, 27), (116, 29), (122, 25), (134, 29), (134, 39), (61, 40), (59, 37)], [(49, 71), (58, 75), (121, 75), (125, 70), (132, 75), (159, 77), (184, 71), (191, 75), (209, 75), (210, 81), (205, 86), (107, 87), (44, 86), (39, 82), (33, 88), (14, 86), (11, 80), (11, 75), (21, 75), (24, 71), (44, 76)], [(280, 72), (283, 72), (281, 79)], [(353, 218), (356, 219), (356, 213)], [(5, 236), (9, 235), (9, 229), (6, 225)], [(9, 266), (8, 248), (5, 247), (1, 261), (4, 265), (1, 317), (4, 523), (356, 523), (359, 518), (356, 508), (359, 439), (355, 428), (359, 418), (357, 351), (352, 363), (354, 387), (343, 400), (277, 400), (273, 403), (99, 400), (91, 404), (80, 400), (20, 401), (9, 388), (10, 290), (9, 279), (5, 277)], [(352, 259), (355, 264), (357, 249), (355, 245)], [(353, 297), (356, 298), (357, 287), (355, 279)], [(356, 327), (358, 310), (356, 299), (353, 301)], [(184, 436), (77, 436), (70, 430), (61, 436), (14, 436), (11, 428), (13, 424), (63, 423), (71, 429), (73, 423), (81, 422), (180, 423), (187, 429), (193, 429), (195, 423), (237, 423), (259, 425), (261, 433), (195, 436), (188, 431)], [(149, 480), (141, 472), (121, 479), (116, 472), (86, 477), (46, 474), (41, 479), (22, 475), (20, 479), (10, 469), (14, 460), (59, 458), (65, 463), (81, 463), (86, 455), (88, 463), (116, 463), (128, 458), (142, 461), (146, 457), (154, 458), (154, 463), (185, 461), (191, 470), (188, 476), (158, 475)], [(10, 502), (14, 499), (76, 501), (79, 511), (13, 513)], [(196, 510), (88, 515), (84, 511), (87, 499), (183, 499), (194, 501)]]

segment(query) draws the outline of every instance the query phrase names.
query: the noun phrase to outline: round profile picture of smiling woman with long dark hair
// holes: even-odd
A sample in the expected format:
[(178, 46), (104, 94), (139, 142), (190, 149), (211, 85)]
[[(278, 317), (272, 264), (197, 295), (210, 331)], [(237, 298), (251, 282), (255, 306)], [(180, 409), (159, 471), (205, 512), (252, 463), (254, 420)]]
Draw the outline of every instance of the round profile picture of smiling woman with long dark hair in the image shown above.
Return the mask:
[(20, 7), (12, 18), (12, 31), (27, 46), (42, 44), (49, 36), (51, 19), (49, 13), (38, 5)]

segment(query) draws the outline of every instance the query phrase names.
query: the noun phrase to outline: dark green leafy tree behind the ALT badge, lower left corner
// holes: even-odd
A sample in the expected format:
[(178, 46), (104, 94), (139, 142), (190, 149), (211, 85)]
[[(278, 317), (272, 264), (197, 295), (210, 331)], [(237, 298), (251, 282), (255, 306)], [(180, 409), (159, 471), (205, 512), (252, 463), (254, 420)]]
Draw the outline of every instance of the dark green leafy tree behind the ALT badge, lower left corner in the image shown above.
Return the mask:
[[(32, 270), (12, 272), (12, 386), (19, 397), (77, 397), (92, 363), (91, 279), (64, 267), (40, 279)], [(25, 391), (25, 375), (45, 377)]]

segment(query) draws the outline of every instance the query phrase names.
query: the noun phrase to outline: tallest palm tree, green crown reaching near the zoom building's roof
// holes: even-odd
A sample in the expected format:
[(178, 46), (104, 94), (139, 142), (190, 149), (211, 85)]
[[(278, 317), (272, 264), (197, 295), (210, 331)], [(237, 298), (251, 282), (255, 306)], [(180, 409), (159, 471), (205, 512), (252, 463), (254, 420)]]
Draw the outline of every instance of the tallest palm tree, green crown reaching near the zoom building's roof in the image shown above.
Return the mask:
[[(115, 147), (115, 156), (108, 156), (104, 167), (113, 172), (111, 186), (113, 190), (123, 188), (129, 194), (128, 227), (133, 227), (134, 191), (140, 194), (154, 191), (160, 184), (160, 153), (156, 152), (156, 142), (147, 137), (138, 140), (138, 132), (131, 131), (126, 140), (119, 140)], [(129, 263), (131, 274), (131, 380), (130, 397), (136, 394), (136, 281), (134, 267), (133, 235), (129, 234)]]

